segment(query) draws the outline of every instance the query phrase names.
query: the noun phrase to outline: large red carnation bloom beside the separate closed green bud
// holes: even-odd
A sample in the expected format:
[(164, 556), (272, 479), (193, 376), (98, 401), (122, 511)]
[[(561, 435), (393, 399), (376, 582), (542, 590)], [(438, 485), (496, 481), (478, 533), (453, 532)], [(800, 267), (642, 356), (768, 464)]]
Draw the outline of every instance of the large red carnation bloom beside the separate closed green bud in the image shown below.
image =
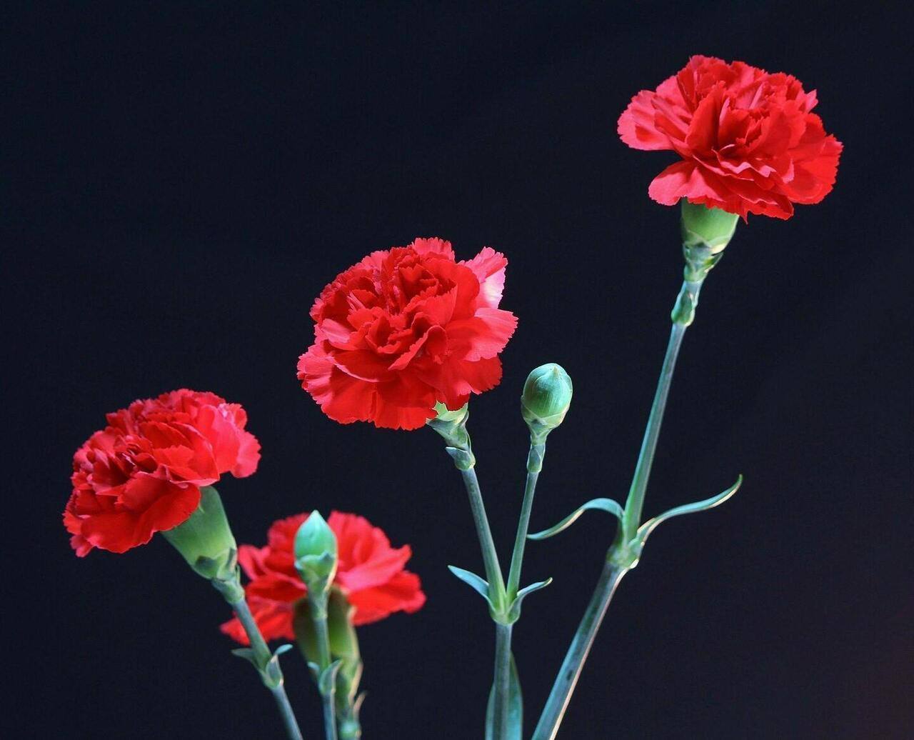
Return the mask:
[(441, 239), (372, 252), (314, 302), (302, 387), (337, 422), (392, 429), (417, 429), (435, 402), (455, 410), (494, 388), (517, 325), (498, 307), (506, 264), (489, 247), (455, 262)]

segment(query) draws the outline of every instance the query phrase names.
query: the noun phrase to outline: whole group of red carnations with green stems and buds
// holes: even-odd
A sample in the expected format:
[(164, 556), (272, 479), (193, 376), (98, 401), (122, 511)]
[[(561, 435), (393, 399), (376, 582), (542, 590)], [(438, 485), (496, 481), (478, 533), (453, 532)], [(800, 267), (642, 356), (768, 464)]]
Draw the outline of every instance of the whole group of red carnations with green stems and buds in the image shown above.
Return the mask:
[[(716, 507), (741, 487), (742, 477), (727, 465), (719, 472), (719, 492), (645, 514), (676, 359), (696, 320), (708, 274), (737, 231), (749, 228), (750, 216), (790, 219), (796, 204), (818, 203), (834, 186), (842, 145), (826, 134), (815, 105), (815, 92), (788, 74), (693, 57), (656, 90), (636, 94), (619, 118), (624, 144), (675, 155), (648, 194), (679, 209), (683, 257), (654, 402), (623, 497), (612, 498), (606, 490), (594, 491), (589, 500), (571, 500), (579, 492), (564, 487), (549, 495), (567, 501), (568, 516), (558, 522), (537, 519), (535, 493), (547, 440), (577, 405), (569, 372), (545, 357), (522, 389), (508, 389), (512, 398), (520, 395), (518, 413), (529, 436), (525, 486), (513, 499), (504, 492), (498, 499), (498, 506), (517, 511), (514, 536), (503, 540), (490, 526), (486, 503), (491, 506), (492, 500), (476, 475), (476, 455), (498, 453), (473, 450), (470, 412), (473, 396), (499, 386), (500, 355), (523, 321), (510, 310), (505, 253), (486, 246), (470, 256), (439, 237), (389, 248), (379, 244), (337, 274), (314, 301), (314, 341), (302, 348), (297, 365), (303, 391), (330, 420), (315, 413), (314, 424), (369, 423), (404, 434), (437, 434), (462, 479), (470, 509), (462, 532), (473, 536), (472, 520), (480, 561), (448, 567), (475, 592), (467, 598), (476, 599), (493, 623), (488, 702), (467, 709), (484, 716), (489, 740), (551, 740), (560, 734), (611, 599), (650, 552), (649, 537), (664, 521)], [(654, 237), (661, 243), (675, 239)], [(221, 499), (218, 486), (226, 475), (254, 475), (261, 454), (269, 455), (251, 431), (256, 429), (257, 419), (249, 429), (242, 405), (210, 391), (169, 391), (109, 413), (73, 457), (72, 493), (63, 514), (72, 549), (80, 557), (94, 550), (127, 552), (156, 532), (173, 545), (227, 602), (221, 625), (193, 627), (204, 634), (208, 628), (214, 639), (221, 630), (221, 638), (235, 645), (233, 652), (250, 663), (275, 699), (278, 718), (264, 724), (262, 736), (389, 737), (383, 717), (363, 722), (359, 639), (361, 627), (391, 616), (409, 619), (425, 604), (420, 575), (408, 569), (410, 547), (391, 543), (382, 529), (385, 521), (348, 511), (345, 501), (324, 518), (306, 495), (290, 510), (263, 511), (260, 542), (236, 542), (227, 515), (232, 504)], [(404, 477), (390, 485), (411, 483)], [(750, 488), (748, 481), (749, 495)], [(527, 597), (547, 599), (548, 591), (537, 592), (562, 573), (527, 576), (525, 552), (553, 536), (573, 537), (573, 531), (565, 532), (588, 511), (605, 517), (605, 558), (593, 563), (595, 584), (579, 627), (554, 635), (568, 645), (564, 661), (540, 666), (555, 673), (547, 702), (528, 706), (522, 691), (525, 663), (515, 660), (513, 636), (530, 612)], [(704, 554), (714, 557), (711, 547)], [(296, 716), (281, 657), (307, 664), (321, 719)], [(368, 670), (372, 681), (384, 680), (383, 667)]]

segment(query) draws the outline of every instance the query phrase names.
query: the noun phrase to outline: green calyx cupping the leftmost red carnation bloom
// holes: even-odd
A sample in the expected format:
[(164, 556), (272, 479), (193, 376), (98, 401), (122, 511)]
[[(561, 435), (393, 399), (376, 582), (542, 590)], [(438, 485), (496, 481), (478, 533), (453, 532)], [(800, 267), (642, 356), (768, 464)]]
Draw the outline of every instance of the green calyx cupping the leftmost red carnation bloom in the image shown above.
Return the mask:
[(162, 535), (197, 574), (211, 581), (235, 579), (238, 545), (216, 488), (200, 488), (200, 503), (194, 513)]

